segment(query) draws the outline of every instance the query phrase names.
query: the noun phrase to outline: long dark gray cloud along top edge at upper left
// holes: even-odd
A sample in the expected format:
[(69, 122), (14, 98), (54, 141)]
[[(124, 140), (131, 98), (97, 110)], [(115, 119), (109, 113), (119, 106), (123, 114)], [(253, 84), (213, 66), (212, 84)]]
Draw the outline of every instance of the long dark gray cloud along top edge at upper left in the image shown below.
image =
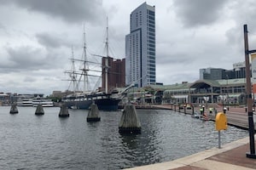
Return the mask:
[(90, 22), (96, 24), (102, 20), (103, 8), (102, 0), (0, 0), (2, 5), (14, 3), (15, 5), (26, 8), (31, 12), (39, 12), (49, 15), (49, 17), (59, 17), (67, 22)]

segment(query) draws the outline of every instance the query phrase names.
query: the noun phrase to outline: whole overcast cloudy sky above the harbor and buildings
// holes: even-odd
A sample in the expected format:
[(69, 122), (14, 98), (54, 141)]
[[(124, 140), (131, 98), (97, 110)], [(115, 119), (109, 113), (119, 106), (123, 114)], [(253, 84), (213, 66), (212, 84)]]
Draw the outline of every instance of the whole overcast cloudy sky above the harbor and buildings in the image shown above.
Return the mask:
[[(52, 94), (71, 88), (71, 58), (125, 58), (130, 14), (142, 0), (0, 0), (0, 92)], [(199, 80), (201, 68), (243, 62), (243, 25), (256, 49), (254, 0), (148, 0), (155, 6), (156, 82)], [(79, 68), (79, 65), (76, 65)]]

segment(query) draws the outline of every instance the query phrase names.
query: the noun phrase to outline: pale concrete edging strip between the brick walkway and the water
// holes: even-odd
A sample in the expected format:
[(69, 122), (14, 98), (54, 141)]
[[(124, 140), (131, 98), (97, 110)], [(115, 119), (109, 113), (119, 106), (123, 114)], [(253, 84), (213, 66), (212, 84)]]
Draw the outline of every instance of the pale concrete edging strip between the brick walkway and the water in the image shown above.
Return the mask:
[[(254, 135), (254, 137), (255, 136), (256, 134)], [(238, 139), (234, 142), (230, 142), (228, 144), (224, 144), (220, 149), (214, 147), (212, 149), (204, 150), (190, 156), (178, 158), (177, 160), (174, 160), (174, 161), (155, 163), (152, 165), (146, 165), (142, 167), (131, 167), (131, 168), (127, 168), (127, 170), (159, 170), (159, 169), (170, 170), (177, 167), (184, 167), (184, 166), (191, 165), (197, 161), (202, 161), (209, 157), (216, 156), (220, 153), (224, 153), (225, 151), (233, 150), (241, 145), (248, 144), (248, 143), (249, 143), (249, 137), (246, 137), (243, 139)]]

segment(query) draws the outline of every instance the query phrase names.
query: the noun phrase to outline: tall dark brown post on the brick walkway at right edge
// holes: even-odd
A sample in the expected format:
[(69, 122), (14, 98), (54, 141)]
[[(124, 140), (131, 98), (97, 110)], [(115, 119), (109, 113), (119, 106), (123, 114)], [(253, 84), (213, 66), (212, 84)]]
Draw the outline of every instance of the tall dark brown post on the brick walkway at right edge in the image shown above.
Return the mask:
[(247, 25), (243, 25), (244, 32), (244, 48), (245, 48), (245, 62), (246, 62), (246, 98), (247, 98), (247, 113), (248, 113), (248, 125), (250, 136), (250, 153), (247, 153), (247, 157), (256, 159), (255, 145), (254, 145), (254, 122), (253, 122), (253, 99), (252, 99), (252, 84), (250, 74), (249, 54), (256, 52), (256, 50), (249, 51), (248, 37), (247, 37)]

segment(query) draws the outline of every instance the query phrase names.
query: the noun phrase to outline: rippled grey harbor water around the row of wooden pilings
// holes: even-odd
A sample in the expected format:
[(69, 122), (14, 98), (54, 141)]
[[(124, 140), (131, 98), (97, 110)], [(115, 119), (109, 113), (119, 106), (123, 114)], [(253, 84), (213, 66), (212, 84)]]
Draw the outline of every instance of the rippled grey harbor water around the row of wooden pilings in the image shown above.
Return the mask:
[[(167, 110), (137, 110), (142, 133), (119, 134), (121, 111), (101, 111), (101, 122), (86, 122), (87, 111), (0, 107), (1, 169), (122, 169), (172, 161), (218, 147), (214, 122)], [(221, 131), (222, 144), (247, 137), (245, 130)]]

